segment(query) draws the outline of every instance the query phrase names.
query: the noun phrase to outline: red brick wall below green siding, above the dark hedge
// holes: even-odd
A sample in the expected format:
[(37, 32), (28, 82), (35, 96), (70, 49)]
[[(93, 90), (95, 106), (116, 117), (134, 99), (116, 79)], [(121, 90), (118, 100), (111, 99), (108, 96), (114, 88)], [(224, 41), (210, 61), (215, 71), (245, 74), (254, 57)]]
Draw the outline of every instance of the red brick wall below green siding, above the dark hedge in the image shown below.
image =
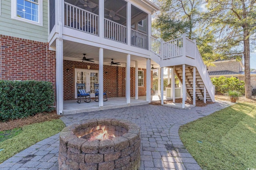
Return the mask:
[(0, 35), (0, 79), (52, 82), (55, 90), (55, 51), (48, 43)]

